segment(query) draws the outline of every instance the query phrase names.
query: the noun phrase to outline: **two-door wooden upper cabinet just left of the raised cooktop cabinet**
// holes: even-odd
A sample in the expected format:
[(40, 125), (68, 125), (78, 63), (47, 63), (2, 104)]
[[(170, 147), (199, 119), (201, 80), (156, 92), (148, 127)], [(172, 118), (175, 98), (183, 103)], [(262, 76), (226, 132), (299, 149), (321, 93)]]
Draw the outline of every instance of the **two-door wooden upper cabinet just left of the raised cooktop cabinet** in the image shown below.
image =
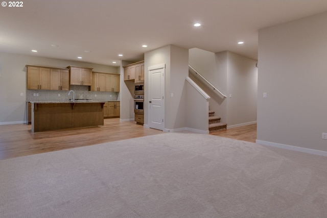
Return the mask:
[(50, 81), (51, 90), (69, 90), (69, 70), (50, 69)]

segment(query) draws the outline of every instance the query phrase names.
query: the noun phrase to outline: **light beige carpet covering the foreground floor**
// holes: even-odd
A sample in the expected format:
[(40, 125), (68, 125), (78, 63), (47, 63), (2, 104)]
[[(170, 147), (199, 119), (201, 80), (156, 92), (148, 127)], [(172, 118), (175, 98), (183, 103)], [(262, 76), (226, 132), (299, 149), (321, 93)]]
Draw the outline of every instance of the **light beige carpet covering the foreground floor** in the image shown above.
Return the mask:
[(327, 217), (327, 158), (167, 133), (0, 161), (0, 217)]

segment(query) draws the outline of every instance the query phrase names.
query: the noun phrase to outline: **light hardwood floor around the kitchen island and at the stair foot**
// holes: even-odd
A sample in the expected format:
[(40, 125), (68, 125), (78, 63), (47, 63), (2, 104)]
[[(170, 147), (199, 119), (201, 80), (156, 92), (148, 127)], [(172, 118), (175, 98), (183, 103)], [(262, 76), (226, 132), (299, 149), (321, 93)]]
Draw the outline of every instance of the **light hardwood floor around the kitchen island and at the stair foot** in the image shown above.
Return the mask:
[[(104, 126), (31, 131), (31, 125), (0, 125), (0, 159), (7, 159), (63, 149), (71, 149), (109, 141), (162, 134), (155, 129), (143, 128), (134, 122), (120, 122), (119, 118), (105, 119)], [(228, 138), (255, 141), (256, 125), (212, 133)]]

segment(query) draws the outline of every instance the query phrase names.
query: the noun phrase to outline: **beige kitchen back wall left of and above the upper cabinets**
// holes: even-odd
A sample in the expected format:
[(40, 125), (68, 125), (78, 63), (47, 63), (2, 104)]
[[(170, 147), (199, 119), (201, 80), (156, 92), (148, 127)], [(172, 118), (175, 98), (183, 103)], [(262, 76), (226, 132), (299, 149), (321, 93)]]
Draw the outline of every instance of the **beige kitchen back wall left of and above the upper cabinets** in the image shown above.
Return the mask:
[[(118, 67), (67, 61), (27, 55), (0, 53), (0, 124), (26, 122), (26, 66), (45, 65), (66, 67), (68, 65), (93, 67), (94, 71), (119, 73)], [(23, 96), (20, 96), (20, 93)]]

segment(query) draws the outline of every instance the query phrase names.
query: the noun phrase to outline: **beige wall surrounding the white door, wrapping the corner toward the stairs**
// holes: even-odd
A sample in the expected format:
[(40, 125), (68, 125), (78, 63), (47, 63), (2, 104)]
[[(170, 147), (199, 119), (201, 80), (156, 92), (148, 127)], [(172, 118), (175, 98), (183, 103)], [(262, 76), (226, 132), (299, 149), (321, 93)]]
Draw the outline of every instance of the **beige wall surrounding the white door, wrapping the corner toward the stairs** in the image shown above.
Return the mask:
[[(145, 54), (145, 86), (149, 87), (148, 67), (166, 64), (165, 70), (165, 131), (186, 127), (186, 86), (189, 51), (174, 45), (167, 45)], [(173, 96), (172, 96), (173, 93)], [(148, 120), (148, 93), (145, 92), (145, 124)]]

